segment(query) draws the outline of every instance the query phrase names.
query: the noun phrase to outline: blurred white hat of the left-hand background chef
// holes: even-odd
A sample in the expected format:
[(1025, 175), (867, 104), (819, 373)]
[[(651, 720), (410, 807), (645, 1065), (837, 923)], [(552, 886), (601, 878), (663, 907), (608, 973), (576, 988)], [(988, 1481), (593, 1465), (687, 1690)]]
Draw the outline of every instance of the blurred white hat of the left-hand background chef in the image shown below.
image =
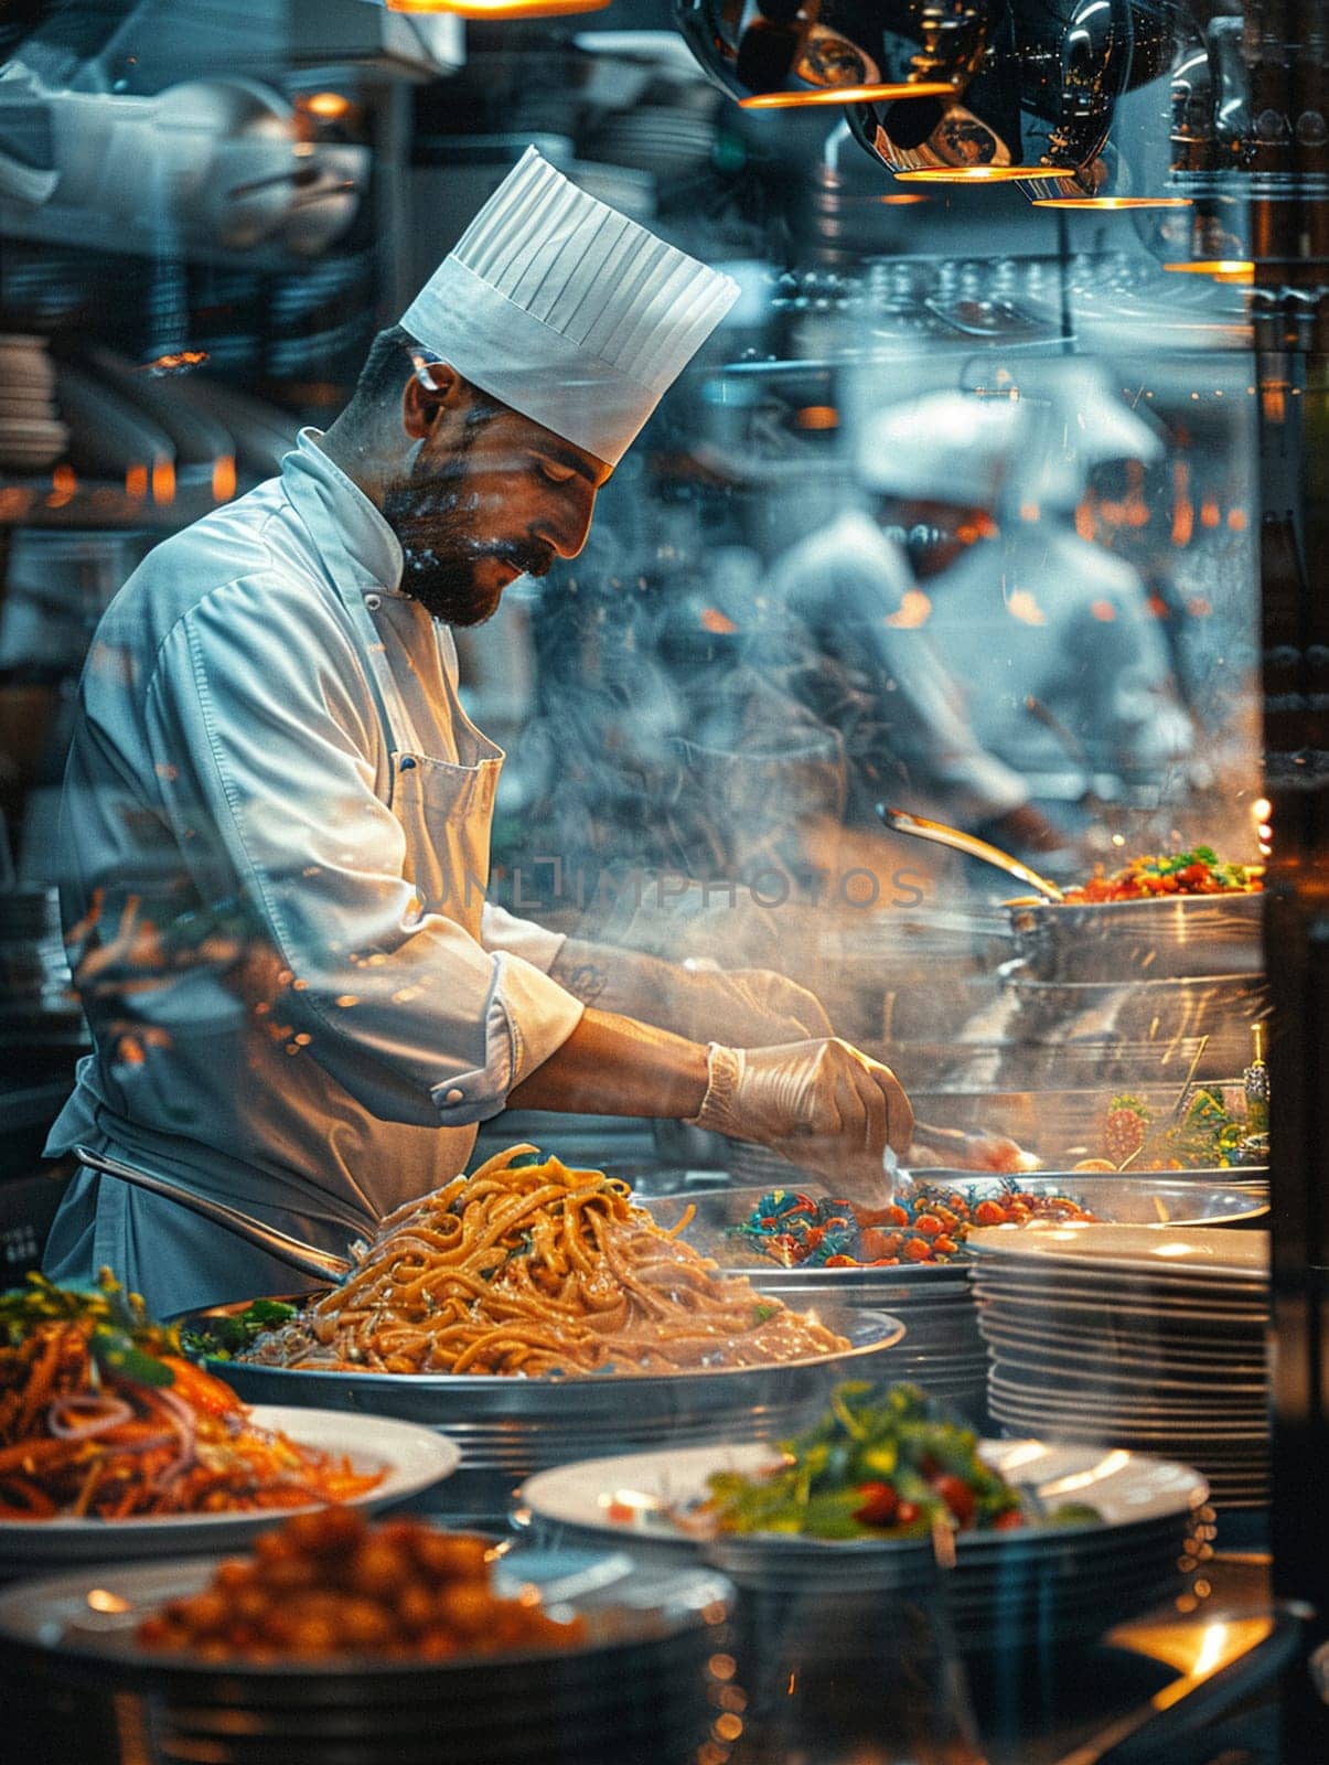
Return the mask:
[(881, 496), (992, 508), (1024, 432), (1013, 399), (928, 392), (867, 415), (854, 441), (860, 482)]

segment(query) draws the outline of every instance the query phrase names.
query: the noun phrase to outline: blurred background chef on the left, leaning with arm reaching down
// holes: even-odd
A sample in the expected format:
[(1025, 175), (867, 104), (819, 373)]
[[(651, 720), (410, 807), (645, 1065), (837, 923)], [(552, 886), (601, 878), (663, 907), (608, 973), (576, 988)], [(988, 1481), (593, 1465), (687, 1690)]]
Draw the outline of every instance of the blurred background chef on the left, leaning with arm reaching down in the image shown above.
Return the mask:
[(1020, 432), (1010, 401), (928, 394), (872, 411), (854, 434), (854, 503), (771, 568), (748, 660), (844, 741), (858, 826), (890, 801), (1010, 847), (1062, 844), (1018, 766), (978, 736), (932, 628), (932, 579), (969, 552), (995, 558)]

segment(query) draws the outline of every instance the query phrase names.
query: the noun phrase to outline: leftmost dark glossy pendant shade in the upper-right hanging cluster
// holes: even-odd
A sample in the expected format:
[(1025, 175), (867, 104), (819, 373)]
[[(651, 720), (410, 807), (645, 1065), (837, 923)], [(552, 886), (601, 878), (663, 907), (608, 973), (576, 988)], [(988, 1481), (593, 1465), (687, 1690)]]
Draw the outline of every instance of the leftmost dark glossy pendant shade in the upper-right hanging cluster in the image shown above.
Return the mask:
[(674, 0), (706, 76), (745, 109), (935, 101), (987, 49), (987, 0)]

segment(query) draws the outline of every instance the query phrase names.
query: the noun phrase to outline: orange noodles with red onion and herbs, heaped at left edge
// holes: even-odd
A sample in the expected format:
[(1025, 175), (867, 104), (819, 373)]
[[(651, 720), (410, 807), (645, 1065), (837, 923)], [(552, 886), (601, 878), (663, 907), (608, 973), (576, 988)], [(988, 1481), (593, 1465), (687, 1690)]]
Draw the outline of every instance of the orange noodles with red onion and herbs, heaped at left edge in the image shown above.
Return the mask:
[(254, 1426), (109, 1273), (97, 1292), (28, 1280), (0, 1296), (0, 1520), (289, 1509), (381, 1483)]

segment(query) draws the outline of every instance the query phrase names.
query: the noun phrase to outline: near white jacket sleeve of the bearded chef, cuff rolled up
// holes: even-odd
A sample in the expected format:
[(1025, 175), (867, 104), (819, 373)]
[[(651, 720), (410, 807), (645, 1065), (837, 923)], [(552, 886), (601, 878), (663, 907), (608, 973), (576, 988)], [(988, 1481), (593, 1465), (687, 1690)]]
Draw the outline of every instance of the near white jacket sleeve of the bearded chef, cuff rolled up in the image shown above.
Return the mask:
[(335, 605), (297, 604), (281, 577), (215, 588), (161, 644), (143, 715), (191, 881), (247, 928), (256, 1010), (371, 1114), (484, 1121), (572, 1034), (577, 999), (537, 962), (485, 950), (409, 881)]

